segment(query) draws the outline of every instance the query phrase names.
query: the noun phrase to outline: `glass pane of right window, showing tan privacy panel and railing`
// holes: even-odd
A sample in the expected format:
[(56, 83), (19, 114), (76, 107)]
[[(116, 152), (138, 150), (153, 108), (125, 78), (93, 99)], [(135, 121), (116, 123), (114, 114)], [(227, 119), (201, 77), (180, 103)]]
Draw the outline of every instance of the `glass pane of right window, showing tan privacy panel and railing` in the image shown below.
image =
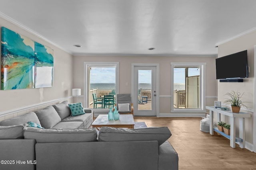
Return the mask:
[(174, 67), (174, 109), (200, 108), (200, 67)]

